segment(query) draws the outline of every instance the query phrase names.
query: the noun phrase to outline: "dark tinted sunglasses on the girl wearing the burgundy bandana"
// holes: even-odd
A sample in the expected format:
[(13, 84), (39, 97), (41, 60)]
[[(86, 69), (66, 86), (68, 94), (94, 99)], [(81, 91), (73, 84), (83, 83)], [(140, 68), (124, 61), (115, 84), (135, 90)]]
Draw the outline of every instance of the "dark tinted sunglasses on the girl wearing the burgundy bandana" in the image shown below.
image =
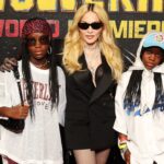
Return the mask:
[(27, 46), (36, 46), (37, 42), (40, 45), (49, 45), (50, 44), (48, 35), (40, 36), (38, 39), (36, 39), (34, 37), (26, 38)]

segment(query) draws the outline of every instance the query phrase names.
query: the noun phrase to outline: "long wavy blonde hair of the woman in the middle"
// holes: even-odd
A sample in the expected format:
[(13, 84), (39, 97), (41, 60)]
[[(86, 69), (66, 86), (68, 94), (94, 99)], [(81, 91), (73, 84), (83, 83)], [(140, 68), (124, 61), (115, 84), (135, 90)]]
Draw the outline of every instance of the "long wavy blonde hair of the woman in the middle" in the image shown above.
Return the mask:
[[(70, 25), (65, 38), (63, 58), (62, 62), (69, 73), (81, 70), (82, 66), (79, 63), (79, 58), (83, 54), (83, 42), (80, 36), (78, 23), (83, 15), (89, 12), (89, 5), (83, 4), (75, 12), (72, 24)], [(118, 81), (122, 72), (122, 58), (120, 50), (115, 44), (112, 28), (109, 26), (109, 19), (106, 11), (94, 4), (92, 11), (96, 13), (99, 21), (103, 23), (103, 31), (98, 38), (99, 48), (105, 56), (108, 66), (112, 69), (113, 78)]]

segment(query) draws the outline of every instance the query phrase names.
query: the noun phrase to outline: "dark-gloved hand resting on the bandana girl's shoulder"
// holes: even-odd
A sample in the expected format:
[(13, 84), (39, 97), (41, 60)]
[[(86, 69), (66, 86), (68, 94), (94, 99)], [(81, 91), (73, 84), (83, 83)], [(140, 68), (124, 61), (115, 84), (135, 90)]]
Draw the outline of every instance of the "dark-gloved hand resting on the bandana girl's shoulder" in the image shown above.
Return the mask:
[(11, 71), (13, 70), (13, 67), (17, 65), (17, 60), (12, 57), (12, 58), (4, 58), (3, 63), (0, 66), (0, 71)]

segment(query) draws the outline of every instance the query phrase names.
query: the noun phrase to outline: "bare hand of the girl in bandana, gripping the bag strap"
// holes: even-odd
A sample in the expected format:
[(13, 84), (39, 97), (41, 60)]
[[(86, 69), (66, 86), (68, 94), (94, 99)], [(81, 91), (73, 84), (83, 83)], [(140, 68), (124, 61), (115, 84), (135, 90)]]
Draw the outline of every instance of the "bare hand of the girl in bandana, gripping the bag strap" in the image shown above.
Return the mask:
[(12, 108), (8, 109), (7, 112), (7, 117), (13, 118), (13, 119), (24, 119), (27, 117), (30, 110), (28, 105), (16, 105), (13, 106)]

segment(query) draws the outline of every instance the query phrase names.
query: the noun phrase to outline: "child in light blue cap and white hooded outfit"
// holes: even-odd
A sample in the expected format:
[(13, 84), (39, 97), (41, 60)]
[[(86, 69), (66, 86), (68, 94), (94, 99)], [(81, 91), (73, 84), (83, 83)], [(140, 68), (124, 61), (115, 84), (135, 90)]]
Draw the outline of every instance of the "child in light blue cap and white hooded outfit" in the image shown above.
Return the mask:
[(151, 32), (116, 92), (119, 148), (127, 164), (164, 163), (164, 33)]

